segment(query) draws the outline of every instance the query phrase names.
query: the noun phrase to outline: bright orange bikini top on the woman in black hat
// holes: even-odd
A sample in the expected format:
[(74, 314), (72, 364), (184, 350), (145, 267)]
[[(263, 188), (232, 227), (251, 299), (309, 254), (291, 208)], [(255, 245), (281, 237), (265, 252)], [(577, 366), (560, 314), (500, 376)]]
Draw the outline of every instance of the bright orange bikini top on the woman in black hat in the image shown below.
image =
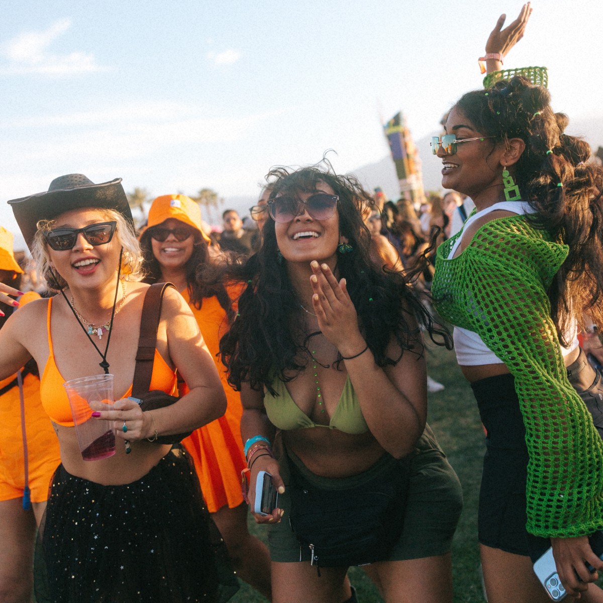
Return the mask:
[[(48, 300), (48, 318), (46, 327), (48, 329), (48, 361), (44, 367), (42, 378), (40, 379), (40, 398), (46, 414), (54, 423), (66, 427), (73, 427), (74, 421), (71, 414), (71, 406), (63, 384), (65, 379), (57, 368), (54, 360), (54, 351), (52, 349), (52, 338), (50, 336), (50, 313), (52, 308), (52, 298)], [(175, 371), (169, 368), (168, 364), (162, 358), (157, 349), (153, 361), (153, 374), (151, 376), (150, 390), (162, 390), (171, 396), (177, 395), (177, 382)], [(124, 394), (124, 398), (130, 396), (132, 386)]]

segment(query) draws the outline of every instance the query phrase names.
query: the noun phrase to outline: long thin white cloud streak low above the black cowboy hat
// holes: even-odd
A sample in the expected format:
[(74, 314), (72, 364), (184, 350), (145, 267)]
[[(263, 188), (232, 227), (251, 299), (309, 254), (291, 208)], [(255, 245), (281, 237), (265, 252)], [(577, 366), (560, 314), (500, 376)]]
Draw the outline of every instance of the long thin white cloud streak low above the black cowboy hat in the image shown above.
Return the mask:
[[(106, 112), (0, 122), (2, 169), (10, 172), (25, 162), (53, 162), (57, 157), (124, 161), (158, 151), (169, 155), (175, 149), (189, 152), (198, 145), (230, 144), (252, 136), (261, 124), (288, 110), (212, 117), (207, 116), (206, 107), (137, 103)], [(21, 132), (27, 136), (15, 140)], [(32, 139), (36, 144), (31, 144)]]

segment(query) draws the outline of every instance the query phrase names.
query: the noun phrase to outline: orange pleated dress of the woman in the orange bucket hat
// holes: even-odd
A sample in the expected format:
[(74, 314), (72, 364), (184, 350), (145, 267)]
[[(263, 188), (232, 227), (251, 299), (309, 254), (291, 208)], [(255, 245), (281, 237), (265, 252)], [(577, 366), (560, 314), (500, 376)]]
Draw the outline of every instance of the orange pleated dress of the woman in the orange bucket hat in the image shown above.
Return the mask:
[(217, 356), (219, 340), (228, 327), (224, 308), (215, 296), (204, 298), (201, 309), (190, 303), (188, 291), (184, 291), (182, 296), (197, 319), (226, 393), (227, 407), (224, 415), (195, 429), (182, 441), (195, 462), (207, 510), (215, 513), (224, 505), (234, 508), (243, 502), (241, 470), (247, 467), (241, 440), (243, 407), (240, 394), (228, 384), (226, 368)]

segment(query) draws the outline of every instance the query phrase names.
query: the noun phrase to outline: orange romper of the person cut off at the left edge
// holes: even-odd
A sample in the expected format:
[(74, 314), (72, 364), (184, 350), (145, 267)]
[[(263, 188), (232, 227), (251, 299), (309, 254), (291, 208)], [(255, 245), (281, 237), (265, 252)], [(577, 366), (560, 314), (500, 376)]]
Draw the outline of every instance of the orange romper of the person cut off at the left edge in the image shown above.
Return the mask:
[[(38, 299), (27, 292), (21, 307)], [(0, 380), (0, 390), (16, 379), (16, 374)], [(31, 502), (44, 502), (54, 470), (60, 463), (57, 435), (42, 408), (40, 379), (33, 374), (23, 379), (25, 437), (27, 438), (28, 485)], [(21, 426), (21, 400), (15, 385), (0, 397), (0, 500), (21, 498), (25, 488), (25, 450)]]

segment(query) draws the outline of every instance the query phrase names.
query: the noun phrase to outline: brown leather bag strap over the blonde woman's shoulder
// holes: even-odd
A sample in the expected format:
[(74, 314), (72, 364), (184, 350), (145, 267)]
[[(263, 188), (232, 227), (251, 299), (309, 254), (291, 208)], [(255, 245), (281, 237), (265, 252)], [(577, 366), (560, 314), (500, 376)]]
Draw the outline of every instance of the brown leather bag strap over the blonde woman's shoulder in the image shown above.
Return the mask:
[(145, 300), (142, 304), (136, 367), (134, 368), (134, 379), (132, 382), (132, 396), (135, 398), (144, 396), (151, 387), (161, 305), (163, 294), (168, 287), (174, 287), (174, 285), (172, 283), (154, 283), (147, 289)]

